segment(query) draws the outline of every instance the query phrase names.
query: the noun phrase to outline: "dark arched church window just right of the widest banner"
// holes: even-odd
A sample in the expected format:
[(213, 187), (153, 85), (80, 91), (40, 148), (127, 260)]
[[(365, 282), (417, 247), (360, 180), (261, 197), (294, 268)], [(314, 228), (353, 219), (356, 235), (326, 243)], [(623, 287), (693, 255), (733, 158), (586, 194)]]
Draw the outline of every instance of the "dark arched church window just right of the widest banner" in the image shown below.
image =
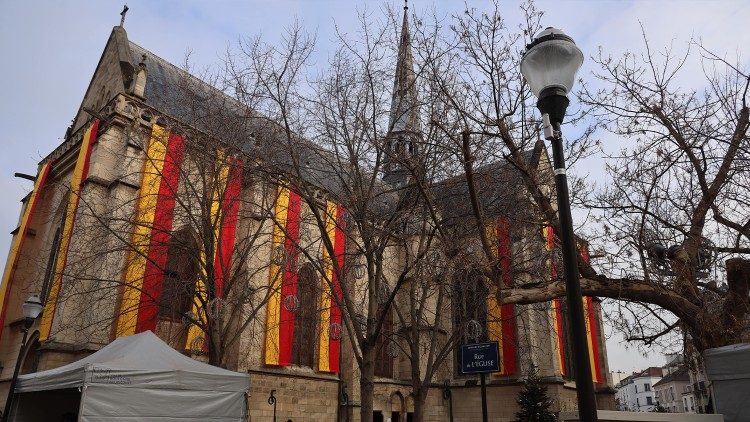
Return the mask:
[(167, 265), (159, 297), (159, 318), (180, 321), (192, 310), (198, 280), (200, 249), (190, 228), (172, 235), (167, 245)]

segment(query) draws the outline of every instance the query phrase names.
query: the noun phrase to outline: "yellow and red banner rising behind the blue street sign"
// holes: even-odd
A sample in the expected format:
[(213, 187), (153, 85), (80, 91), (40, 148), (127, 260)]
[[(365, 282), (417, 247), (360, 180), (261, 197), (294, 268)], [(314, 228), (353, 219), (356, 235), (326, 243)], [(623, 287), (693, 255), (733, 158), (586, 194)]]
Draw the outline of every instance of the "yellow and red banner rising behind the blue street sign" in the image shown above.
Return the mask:
[[(507, 218), (499, 218), (486, 228), (487, 238), (496, 245), (494, 251), (500, 265), (503, 285), (513, 286), (511, 268), (510, 224)], [(497, 301), (497, 286), (490, 286), (487, 296), (487, 337), (499, 343), (500, 372), (498, 375), (512, 375), (517, 370), (517, 344), (515, 327), (515, 306), (512, 303), (500, 305)]]

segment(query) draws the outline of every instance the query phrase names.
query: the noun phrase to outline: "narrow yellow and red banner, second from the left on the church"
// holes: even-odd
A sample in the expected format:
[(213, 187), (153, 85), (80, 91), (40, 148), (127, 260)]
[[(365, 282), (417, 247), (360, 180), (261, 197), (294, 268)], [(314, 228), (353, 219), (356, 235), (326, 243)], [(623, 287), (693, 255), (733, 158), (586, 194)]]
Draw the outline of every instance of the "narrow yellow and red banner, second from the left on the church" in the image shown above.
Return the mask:
[(70, 178), (70, 196), (65, 208), (65, 220), (63, 221), (62, 234), (60, 236), (60, 250), (54, 264), (52, 284), (50, 285), (47, 303), (44, 305), (42, 320), (39, 324), (39, 341), (45, 341), (49, 338), (52, 331), (52, 322), (57, 309), (57, 298), (60, 293), (62, 284), (63, 271), (68, 262), (68, 249), (70, 240), (73, 236), (73, 226), (75, 225), (76, 214), (78, 211), (78, 202), (81, 199), (81, 188), (83, 182), (88, 177), (89, 162), (91, 161), (91, 151), (96, 144), (99, 131), (99, 120), (94, 120), (83, 133), (81, 140), (81, 149), (78, 151), (78, 159)]

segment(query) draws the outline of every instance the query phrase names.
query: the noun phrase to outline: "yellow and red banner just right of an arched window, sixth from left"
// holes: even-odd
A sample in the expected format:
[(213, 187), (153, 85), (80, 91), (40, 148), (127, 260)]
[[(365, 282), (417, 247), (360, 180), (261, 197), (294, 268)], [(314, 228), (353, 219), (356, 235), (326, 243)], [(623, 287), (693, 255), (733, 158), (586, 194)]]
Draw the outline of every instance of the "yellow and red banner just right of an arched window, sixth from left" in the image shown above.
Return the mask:
[(329, 250), (323, 245), (325, 275), (321, 278), (321, 315), (318, 338), (318, 370), (321, 372), (339, 372), (341, 335), (343, 334), (341, 308), (339, 307), (342, 298), (339, 274), (343, 274), (344, 271), (346, 251), (346, 227), (344, 227), (343, 216), (343, 207), (330, 201), (326, 204), (326, 235), (333, 246), (334, 259), (330, 259)]

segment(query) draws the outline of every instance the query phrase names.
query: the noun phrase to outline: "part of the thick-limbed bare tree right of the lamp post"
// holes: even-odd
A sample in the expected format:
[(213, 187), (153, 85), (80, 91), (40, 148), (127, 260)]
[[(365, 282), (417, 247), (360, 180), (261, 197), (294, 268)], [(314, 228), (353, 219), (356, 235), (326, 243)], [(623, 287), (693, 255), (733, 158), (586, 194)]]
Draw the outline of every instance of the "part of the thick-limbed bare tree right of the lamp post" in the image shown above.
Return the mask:
[[(657, 52), (643, 39), (640, 54), (600, 53), (598, 81), (581, 93), (604, 129), (631, 140), (608, 157), (611, 183), (588, 202), (608, 240), (601, 271), (625, 272), (632, 293), (622, 298), (649, 316), (631, 327), (632, 339), (650, 344), (678, 330), (698, 351), (742, 341), (750, 328), (742, 275), (750, 75), (698, 41)], [(696, 66), (704, 79), (691, 88), (686, 73)]]

